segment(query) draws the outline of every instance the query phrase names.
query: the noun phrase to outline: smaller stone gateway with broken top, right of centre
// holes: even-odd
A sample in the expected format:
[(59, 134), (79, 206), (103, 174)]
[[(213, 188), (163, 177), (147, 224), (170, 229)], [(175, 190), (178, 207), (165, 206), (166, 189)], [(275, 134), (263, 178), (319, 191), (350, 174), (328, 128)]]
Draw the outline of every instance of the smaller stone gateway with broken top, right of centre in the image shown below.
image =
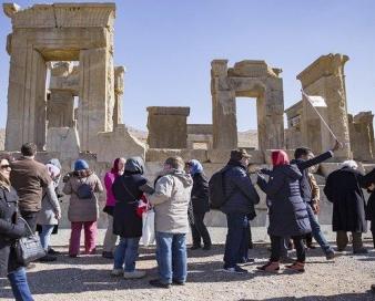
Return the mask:
[(213, 148), (237, 147), (235, 97), (256, 97), (259, 147), (284, 147), (284, 97), (280, 69), (264, 61), (211, 62)]

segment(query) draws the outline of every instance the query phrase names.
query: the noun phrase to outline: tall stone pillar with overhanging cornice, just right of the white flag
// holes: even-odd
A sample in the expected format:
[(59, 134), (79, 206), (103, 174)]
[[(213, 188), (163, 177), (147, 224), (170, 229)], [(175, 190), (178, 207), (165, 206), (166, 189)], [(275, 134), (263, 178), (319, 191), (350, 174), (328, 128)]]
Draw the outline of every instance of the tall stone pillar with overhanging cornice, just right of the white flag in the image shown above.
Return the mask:
[[(322, 55), (297, 75), (297, 80), (301, 81), (307, 94), (325, 98), (326, 122), (344, 146), (335, 154), (335, 157), (339, 159), (352, 158), (344, 75), (344, 64), (347, 61), (348, 56), (343, 54)], [(330, 136), (330, 147), (333, 144), (334, 139)]]

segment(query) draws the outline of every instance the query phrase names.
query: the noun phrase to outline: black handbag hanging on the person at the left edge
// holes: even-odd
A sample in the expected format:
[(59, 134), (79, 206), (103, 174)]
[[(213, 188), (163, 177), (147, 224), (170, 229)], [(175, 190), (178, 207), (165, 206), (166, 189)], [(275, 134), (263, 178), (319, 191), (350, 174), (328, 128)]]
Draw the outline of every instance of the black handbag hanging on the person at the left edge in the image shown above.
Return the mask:
[(36, 261), (45, 256), (45, 250), (40, 243), (40, 238), (38, 235), (33, 233), (29, 224), (20, 217), (24, 222), (24, 226), (28, 228), (29, 233), (26, 237), (18, 239), (14, 243), (17, 262), (27, 266), (32, 261)]

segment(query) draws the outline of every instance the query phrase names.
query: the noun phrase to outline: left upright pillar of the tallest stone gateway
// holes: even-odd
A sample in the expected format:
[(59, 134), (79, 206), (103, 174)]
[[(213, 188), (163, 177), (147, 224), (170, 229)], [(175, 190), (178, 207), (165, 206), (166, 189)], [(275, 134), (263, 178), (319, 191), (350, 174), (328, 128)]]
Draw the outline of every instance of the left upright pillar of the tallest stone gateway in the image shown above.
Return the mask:
[(12, 49), (9, 74), (6, 149), (19, 150), (23, 143), (34, 142), (43, 150), (45, 62), (32, 46)]

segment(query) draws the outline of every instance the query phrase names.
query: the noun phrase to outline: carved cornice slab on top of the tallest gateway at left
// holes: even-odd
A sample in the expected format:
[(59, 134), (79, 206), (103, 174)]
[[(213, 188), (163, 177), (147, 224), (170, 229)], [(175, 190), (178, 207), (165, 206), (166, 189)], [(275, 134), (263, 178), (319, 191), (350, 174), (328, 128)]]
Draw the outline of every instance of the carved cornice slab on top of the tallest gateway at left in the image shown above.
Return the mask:
[(114, 3), (34, 4), (20, 9), (4, 3), (4, 13), (12, 19), (13, 29), (22, 28), (112, 28)]

